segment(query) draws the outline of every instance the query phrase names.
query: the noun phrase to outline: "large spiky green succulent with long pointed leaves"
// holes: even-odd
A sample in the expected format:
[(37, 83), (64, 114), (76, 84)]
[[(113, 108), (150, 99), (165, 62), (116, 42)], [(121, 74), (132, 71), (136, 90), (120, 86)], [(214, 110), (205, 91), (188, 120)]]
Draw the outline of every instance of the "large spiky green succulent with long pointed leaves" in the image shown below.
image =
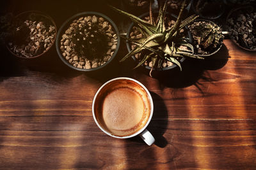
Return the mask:
[[(194, 53), (193, 45), (188, 43), (187, 39), (184, 36), (180, 36), (180, 30), (182, 30), (187, 25), (191, 24), (193, 20), (195, 20), (198, 16), (191, 15), (185, 20), (181, 20), (182, 12), (184, 10), (184, 6), (186, 4), (186, 0), (183, 1), (182, 6), (180, 8), (179, 16), (170, 28), (165, 27), (164, 25), (164, 17), (166, 15), (166, 3), (161, 4), (159, 8), (158, 21), (154, 23), (152, 20), (152, 10), (150, 8), (150, 23), (138, 18), (130, 13), (127, 13), (122, 10), (118, 10), (117, 8), (111, 6), (114, 10), (119, 13), (129, 17), (135, 24), (138, 29), (140, 29), (141, 34), (143, 34), (142, 38), (129, 38), (128, 40), (137, 45), (135, 48), (131, 50), (125, 57), (121, 60), (124, 61), (128, 57), (135, 55), (136, 53), (141, 53), (144, 50), (147, 50), (148, 55), (143, 56), (141, 62), (138, 64), (140, 66), (146, 60), (152, 60), (152, 68), (150, 71), (150, 76), (153, 67), (156, 65), (158, 60), (168, 60), (173, 64), (180, 67), (180, 62), (178, 58), (180, 57), (193, 57), (196, 59), (204, 59)], [(180, 46), (186, 46), (186, 48), (180, 48)], [(159, 65), (159, 64), (158, 64)], [(136, 67), (138, 67), (136, 66)]]

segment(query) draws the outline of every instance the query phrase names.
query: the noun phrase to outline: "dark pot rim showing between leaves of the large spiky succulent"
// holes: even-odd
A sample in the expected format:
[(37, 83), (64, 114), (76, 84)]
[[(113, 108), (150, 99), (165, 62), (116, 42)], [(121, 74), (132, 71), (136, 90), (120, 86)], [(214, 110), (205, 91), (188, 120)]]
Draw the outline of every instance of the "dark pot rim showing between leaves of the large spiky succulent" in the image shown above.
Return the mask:
[[(157, 13), (157, 11), (153, 11), (153, 13)], [(139, 18), (145, 17), (145, 16), (147, 16), (147, 15), (149, 15), (149, 12), (143, 13), (142, 15), (139, 16)], [(172, 16), (172, 17), (174, 17), (174, 18), (177, 19), (177, 15), (175, 15), (175, 14), (173, 14), (173, 13), (169, 13), (168, 11), (166, 11), (166, 15), (170, 15), (170, 16)], [(132, 29), (133, 25), (134, 25), (134, 23), (132, 22), (131, 25), (130, 25), (129, 28), (128, 28), (128, 31), (127, 31), (127, 34), (126, 34), (126, 38), (129, 38), (129, 35), (130, 35), (130, 33), (131, 33), (131, 29)], [(187, 27), (185, 27), (185, 28), (186, 28), (186, 30), (188, 31)], [(192, 41), (192, 36), (191, 36), (191, 32), (189, 32), (189, 31), (188, 31), (188, 38), (189, 38), (189, 42), (191, 42), (191, 41)], [(129, 41), (128, 41), (128, 40), (126, 40), (126, 47), (127, 47), (128, 52), (131, 52), (131, 46), (129, 45)], [(136, 59), (136, 57), (134, 57), (134, 55), (132, 55), (132, 59), (137, 62), (137, 59)], [(186, 60), (186, 58), (185, 58), (185, 57), (182, 57), (182, 58), (180, 59), (180, 62), (184, 62), (184, 60)], [(143, 65), (142, 67), (145, 67), (146, 69), (151, 69), (151, 67), (145, 66), (145, 65)], [(154, 70), (154, 71), (166, 71), (166, 70), (169, 70), (169, 69), (173, 69), (173, 68), (175, 68), (175, 67), (177, 67), (177, 65), (176, 65), (176, 64), (173, 64), (172, 66), (163, 67), (163, 68), (157, 69), (157, 70), (156, 70), (155, 68), (153, 68), (153, 70)]]

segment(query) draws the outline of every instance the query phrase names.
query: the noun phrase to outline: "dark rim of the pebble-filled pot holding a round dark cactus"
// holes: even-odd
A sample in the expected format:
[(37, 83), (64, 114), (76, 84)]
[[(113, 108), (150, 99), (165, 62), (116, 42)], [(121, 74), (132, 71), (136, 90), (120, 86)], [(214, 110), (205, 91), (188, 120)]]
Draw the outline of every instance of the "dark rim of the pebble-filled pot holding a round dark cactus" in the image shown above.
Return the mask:
[[(102, 66), (98, 66), (98, 67), (95, 67), (95, 68), (92, 68), (92, 69), (81, 69), (81, 68), (77, 68), (77, 67), (74, 67), (72, 64), (70, 64), (66, 59), (63, 58), (62, 56), (62, 52), (60, 51), (60, 39), (61, 39), (61, 36), (63, 35), (63, 31), (64, 29), (67, 27), (68, 24), (70, 24), (70, 22), (72, 22), (74, 19), (78, 18), (78, 17), (81, 17), (81, 16), (88, 16), (88, 15), (98, 15), (100, 17), (103, 17), (105, 18), (106, 20), (108, 20), (108, 22), (110, 22), (110, 24), (115, 28), (115, 32), (116, 32), (116, 36), (117, 36), (117, 45), (116, 45), (116, 50), (115, 52), (113, 53), (113, 55), (110, 57), (110, 59), (105, 63), (103, 64)], [(101, 69), (102, 67), (105, 67), (109, 64), (109, 62), (111, 62), (115, 56), (116, 56), (116, 53), (118, 52), (118, 49), (119, 49), (119, 46), (120, 46), (120, 34), (119, 34), (119, 31), (118, 31), (118, 28), (116, 27), (116, 24), (113, 22), (113, 20), (111, 20), (109, 17), (107, 17), (106, 15), (102, 14), (102, 13), (99, 13), (99, 12), (95, 12), (95, 11), (84, 11), (84, 12), (81, 12), (81, 13), (77, 13), (76, 15), (73, 15), (72, 17), (68, 18), (60, 27), (59, 31), (58, 31), (58, 34), (57, 34), (57, 38), (56, 38), (56, 50), (57, 50), (57, 53), (60, 57), (60, 59), (70, 68), (72, 69), (76, 69), (77, 71), (95, 71), (95, 70), (98, 70), (98, 69)]]

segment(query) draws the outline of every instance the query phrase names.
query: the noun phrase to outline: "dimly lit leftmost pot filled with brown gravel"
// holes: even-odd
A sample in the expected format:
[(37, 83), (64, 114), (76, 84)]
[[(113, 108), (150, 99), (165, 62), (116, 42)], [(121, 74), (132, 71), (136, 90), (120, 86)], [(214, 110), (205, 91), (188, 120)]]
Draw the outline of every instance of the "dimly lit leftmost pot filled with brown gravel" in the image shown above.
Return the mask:
[(54, 44), (56, 24), (40, 11), (26, 11), (13, 18), (6, 37), (7, 48), (13, 55), (32, 59), (43, 55)]

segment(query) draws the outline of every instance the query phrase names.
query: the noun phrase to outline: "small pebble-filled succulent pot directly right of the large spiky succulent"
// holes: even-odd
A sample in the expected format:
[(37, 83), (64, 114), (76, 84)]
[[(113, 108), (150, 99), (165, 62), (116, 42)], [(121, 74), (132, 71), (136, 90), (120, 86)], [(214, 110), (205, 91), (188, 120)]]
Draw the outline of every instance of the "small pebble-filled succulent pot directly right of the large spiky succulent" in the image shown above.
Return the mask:
[(207, 57), (218, 52), (223, 44), (221, 27), (210, 20), (195, 20), (188, 25), (193, 37), (195, 53)]

